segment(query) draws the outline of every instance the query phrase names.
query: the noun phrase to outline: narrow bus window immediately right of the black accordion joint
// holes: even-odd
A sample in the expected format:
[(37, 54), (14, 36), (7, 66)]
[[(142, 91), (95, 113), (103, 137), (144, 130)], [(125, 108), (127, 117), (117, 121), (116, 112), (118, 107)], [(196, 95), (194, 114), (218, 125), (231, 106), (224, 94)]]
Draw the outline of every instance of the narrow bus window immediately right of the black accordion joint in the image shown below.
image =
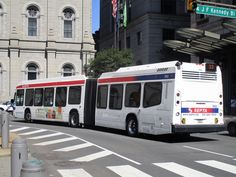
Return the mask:
[(107, 108), (107, 85), (98, 86), (98, 96), (97, 96), (97, 108)]

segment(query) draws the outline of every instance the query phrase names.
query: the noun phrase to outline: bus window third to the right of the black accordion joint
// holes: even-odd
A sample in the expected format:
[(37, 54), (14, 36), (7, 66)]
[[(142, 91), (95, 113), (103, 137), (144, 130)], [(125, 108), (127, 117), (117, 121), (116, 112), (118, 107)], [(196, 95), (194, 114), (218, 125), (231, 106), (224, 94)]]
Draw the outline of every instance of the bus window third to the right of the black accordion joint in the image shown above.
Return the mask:
[(140, 91), (141, 84), (127, 84), (125, 89), (125, 106), (139, 107), (140, 106)]

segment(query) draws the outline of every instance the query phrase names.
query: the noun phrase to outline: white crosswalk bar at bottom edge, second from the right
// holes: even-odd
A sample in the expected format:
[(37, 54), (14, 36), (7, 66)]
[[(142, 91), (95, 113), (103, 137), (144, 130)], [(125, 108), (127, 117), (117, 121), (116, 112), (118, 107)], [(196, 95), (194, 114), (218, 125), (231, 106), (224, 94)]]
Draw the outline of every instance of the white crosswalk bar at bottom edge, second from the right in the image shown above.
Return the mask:
[(171, 171), (173, 173), (176, 173), (183, 177), (213, 177), (211, 175), (208, 175), (206, 173), (185, 167), (183, 165), (177, 164), (175, 162), (166, 162), (166, 163), (154, 163), (154, 165), (164, 168), (168, 171)]

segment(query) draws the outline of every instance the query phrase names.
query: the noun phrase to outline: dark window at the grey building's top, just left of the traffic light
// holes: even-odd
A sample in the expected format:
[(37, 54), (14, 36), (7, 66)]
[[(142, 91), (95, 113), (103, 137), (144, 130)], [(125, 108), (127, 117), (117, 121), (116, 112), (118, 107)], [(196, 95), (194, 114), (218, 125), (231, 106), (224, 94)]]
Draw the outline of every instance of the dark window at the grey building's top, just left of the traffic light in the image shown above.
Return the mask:
[(176, 0), (161, 0), (162, 14), (176, 14)]

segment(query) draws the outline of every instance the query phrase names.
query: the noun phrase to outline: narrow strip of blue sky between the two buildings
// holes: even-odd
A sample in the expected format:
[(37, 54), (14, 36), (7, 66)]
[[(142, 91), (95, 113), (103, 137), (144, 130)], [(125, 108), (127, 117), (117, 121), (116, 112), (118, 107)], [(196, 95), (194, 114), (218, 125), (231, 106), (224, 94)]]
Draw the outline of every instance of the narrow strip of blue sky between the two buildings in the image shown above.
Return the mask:
[(92, 12), (92, 32), (94, 33), (99, 29), (99, 21), (100, 21), (100, 0), (93, 0), (93, 12)]

